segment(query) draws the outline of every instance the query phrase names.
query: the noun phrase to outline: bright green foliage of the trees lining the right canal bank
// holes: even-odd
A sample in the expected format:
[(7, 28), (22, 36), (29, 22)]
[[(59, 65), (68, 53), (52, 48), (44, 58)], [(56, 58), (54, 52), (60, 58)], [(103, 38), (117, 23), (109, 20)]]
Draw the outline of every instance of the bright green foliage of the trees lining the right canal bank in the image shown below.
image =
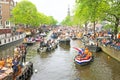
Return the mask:
[[(98, 22), (107, 20), (114, 24), (115, 34), (120, 22), (119, 0), (76, 0), (74, 23)], [(94, 25), (95, 27), (95, 25)]]

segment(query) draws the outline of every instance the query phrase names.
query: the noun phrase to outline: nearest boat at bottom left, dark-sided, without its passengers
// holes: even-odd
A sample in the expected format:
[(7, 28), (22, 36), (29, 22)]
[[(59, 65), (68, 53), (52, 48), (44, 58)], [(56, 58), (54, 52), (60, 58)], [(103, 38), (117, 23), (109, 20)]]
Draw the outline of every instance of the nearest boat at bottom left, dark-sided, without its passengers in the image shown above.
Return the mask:
[(0, 80), (28, 80), (33, 74), (33, 63), (26, 62), (23, 68), (18, 68), (17, 75), (13, 75), (11, 68), (3, 67), (0, 70)]

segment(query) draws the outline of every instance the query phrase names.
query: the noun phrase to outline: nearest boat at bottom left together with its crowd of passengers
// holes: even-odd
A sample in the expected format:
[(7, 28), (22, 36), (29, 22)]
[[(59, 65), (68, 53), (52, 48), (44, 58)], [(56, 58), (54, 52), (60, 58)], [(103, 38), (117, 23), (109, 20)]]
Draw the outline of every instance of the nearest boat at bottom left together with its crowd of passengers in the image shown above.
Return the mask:
[(0, 80), (27, 80), (33, 74), (33, 63), (26, 61), (26, 46), (16, 46), (13, 56), (0, 58)]

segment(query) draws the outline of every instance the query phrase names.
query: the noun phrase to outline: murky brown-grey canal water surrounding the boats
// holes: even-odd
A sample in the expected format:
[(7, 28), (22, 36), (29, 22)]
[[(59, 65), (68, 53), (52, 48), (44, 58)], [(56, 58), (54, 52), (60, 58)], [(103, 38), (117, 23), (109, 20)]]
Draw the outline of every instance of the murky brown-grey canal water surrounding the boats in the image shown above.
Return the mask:
[[(37, 53), (39, 43), (29, 46), (27, 61), (32, 61), (34, 73), (31, 80), (120, 80), (120, 62), (103, 52), (93, 53), (94, 61), (86, 66), (74, 62), (77, 52), (73, 47), (82, 47), (80, 41), (72, 41), (70, 46), (58, 46), (48, 53)], [(12, 54), (13, 47), (0, 50)], [(37, 72), (35, 72), (37, 70)]]

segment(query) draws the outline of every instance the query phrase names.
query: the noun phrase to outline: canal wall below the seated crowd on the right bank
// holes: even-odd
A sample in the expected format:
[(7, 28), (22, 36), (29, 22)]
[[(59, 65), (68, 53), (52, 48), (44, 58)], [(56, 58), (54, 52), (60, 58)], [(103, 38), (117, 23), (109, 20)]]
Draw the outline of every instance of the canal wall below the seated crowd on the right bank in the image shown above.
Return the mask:
[(110, 46), (100, 45), (100, 47), (102, 48), (103, 52), (120, 62), (120, 50), (116, 50)]

